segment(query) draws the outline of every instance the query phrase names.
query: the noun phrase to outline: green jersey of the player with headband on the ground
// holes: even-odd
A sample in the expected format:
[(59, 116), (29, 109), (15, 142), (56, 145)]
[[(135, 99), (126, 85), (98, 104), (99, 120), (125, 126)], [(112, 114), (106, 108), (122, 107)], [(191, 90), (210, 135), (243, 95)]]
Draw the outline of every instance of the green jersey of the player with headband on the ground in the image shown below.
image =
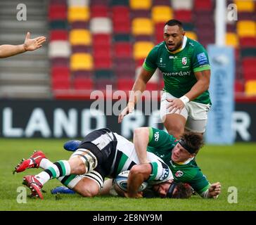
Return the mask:
[(177, 139), (160, 129), (150, 127), (149, 131), (150, 136), (147, 150), (158, 155), (169, 166), (174, 180), (190, 184), (199, 194), (207, 191), (210, 183), (194, 159), (182, 165), (172, 162), (172, 149), (178, 143)]

